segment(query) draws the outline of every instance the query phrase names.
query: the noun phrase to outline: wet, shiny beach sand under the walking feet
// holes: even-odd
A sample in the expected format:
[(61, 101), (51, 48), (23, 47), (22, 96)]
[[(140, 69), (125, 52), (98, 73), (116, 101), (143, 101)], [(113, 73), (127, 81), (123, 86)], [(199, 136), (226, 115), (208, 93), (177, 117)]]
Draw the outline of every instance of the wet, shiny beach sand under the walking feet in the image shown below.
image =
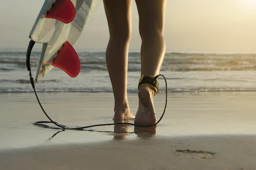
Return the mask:
[[(111, 93), (39, 93), (70, 127), (113, 123)], [(52, 130), (33, 93), (0, 94), (0, 170), (254, 170), (256, 92), (169, 93), (156, 128)], [(129, 94), (136, 113), (137, 95)], [(155, 97), (157, 118), (165, 94)], [(51, 125), (53, 126), (53, 125)]]

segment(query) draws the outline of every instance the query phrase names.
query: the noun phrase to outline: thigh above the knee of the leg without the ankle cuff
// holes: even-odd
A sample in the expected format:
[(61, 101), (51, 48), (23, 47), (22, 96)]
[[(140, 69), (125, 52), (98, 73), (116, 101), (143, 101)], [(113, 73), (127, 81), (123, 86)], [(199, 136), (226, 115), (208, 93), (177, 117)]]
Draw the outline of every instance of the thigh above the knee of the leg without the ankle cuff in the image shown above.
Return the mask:
[(103, 0), (110, 35), (131, 32), (132, 0)]

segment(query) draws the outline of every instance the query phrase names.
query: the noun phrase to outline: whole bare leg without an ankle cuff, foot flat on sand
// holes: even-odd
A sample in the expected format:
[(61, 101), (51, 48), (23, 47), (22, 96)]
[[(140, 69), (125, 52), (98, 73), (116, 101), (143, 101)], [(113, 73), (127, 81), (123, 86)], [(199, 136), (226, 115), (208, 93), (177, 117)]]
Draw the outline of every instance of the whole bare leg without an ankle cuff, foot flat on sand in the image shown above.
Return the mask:
[(132, 0), (103, 0), (110, 39), (106, 63), (115, 99), (114, 120), (134, 118), (127, 98), (128, 49), (131, 40)]

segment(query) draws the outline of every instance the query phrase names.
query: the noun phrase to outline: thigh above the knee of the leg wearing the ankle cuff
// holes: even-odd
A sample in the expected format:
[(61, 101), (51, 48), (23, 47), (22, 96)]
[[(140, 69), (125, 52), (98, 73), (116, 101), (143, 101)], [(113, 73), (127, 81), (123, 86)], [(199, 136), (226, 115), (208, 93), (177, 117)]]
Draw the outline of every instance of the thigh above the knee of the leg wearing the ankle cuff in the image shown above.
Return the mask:
[(164, 30), (166, 0), (135, 0), (139, 14), (140, 32)]

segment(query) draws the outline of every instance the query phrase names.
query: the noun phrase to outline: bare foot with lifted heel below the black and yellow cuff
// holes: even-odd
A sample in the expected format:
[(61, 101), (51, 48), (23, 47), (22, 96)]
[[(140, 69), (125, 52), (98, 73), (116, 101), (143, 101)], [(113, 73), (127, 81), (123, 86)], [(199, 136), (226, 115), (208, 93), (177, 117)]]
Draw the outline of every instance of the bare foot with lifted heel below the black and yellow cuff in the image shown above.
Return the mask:
[(139, 107), (134, 124), (150, 126), (157, 122), (154, 111), (154, 90), (149, 86), (142, 86), (139, 91)]

